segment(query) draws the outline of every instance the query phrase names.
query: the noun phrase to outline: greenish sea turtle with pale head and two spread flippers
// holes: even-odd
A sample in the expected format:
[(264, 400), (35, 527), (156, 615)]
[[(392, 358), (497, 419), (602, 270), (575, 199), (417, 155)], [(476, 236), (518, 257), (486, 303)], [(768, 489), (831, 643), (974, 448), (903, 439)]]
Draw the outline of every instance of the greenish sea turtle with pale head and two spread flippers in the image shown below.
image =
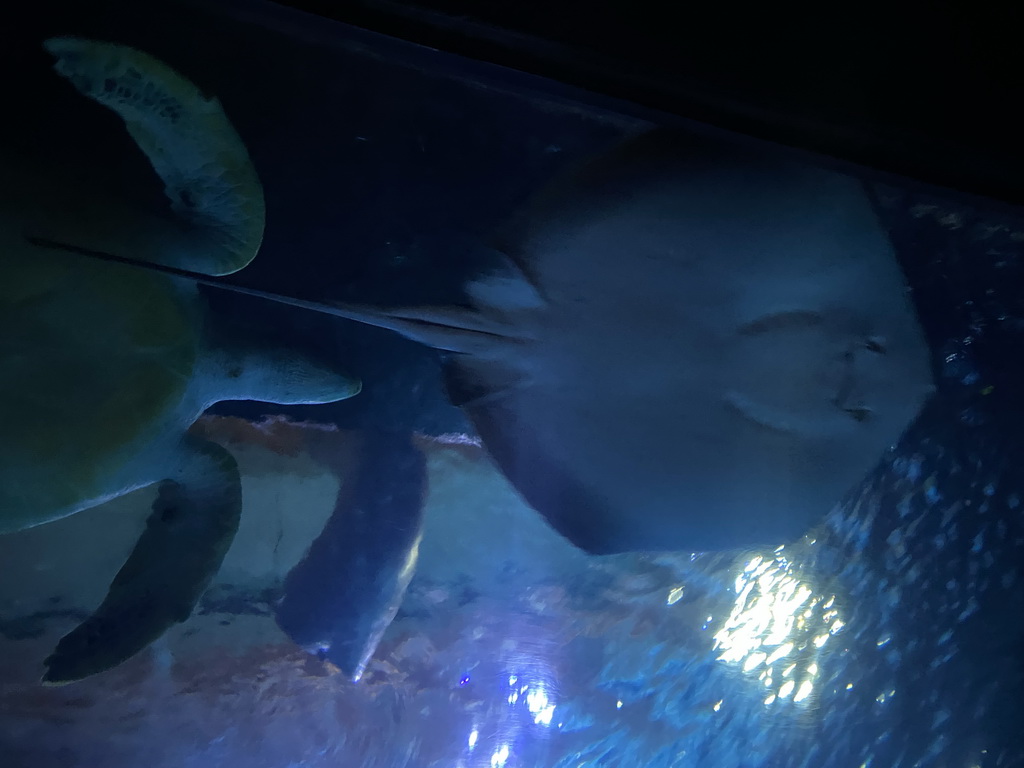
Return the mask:
[[(110, 669), (191, 612), (238, 528), (238, 466), (187, 434), (214, 402), (332, 402), (353, 380), (301, 351), (231, 333), (187, 280), (33, 244), (87, 248), (207, 274), (259, 249), (263, 194), (220, 103), (151, 55), (53, 38), (56, 71), (113, 110), (165, 183), (174, 216), (70, 188), (62, 170), (0, 154), (0, 532), (155, 482), (146, 528), (98, 609), (46, 659), (43, 681)], [(20, 167), (19, 167), (20, 166)], [(96, 185), (98, 187), (98, 184)]]

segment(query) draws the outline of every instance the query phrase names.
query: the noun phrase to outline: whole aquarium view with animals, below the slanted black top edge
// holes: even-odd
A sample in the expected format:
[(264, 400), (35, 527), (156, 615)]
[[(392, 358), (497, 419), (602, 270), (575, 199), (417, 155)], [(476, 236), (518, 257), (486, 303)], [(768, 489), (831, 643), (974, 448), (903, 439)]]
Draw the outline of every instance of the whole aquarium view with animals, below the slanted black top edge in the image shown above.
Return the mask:
[(1020, 210), (262, 2), (0, 36), (0, 768), (1024, 766)]

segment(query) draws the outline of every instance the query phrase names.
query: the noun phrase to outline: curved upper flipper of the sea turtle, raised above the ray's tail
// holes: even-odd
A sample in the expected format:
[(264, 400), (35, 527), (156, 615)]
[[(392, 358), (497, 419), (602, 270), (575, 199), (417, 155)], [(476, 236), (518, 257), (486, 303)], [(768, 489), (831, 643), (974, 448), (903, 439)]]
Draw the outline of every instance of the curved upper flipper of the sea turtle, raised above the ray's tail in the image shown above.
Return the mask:
[(60, 75), (125, 121), (164, 181), (177, 221), (145, 217), (104, 200), (109, 210), (102, 215), (69, 213), (29, 234), (126, 251), (205, 274), (227, 274), (248, 264), (263, 239), (263, 188), (220, 102), (128, 46), (74, 37), (50, 38), (44, 45), (56, 56)]

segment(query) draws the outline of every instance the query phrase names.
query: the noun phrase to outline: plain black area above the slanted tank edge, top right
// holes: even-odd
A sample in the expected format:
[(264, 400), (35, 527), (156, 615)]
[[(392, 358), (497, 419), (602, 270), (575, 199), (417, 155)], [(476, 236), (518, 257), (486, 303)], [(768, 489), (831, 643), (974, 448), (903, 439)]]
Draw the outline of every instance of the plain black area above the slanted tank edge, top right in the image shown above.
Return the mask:
[[(243, 3), (240, 3), (240, 5)], [(1024, 202), (1011, 5), (288, 0), (442, 50)]]

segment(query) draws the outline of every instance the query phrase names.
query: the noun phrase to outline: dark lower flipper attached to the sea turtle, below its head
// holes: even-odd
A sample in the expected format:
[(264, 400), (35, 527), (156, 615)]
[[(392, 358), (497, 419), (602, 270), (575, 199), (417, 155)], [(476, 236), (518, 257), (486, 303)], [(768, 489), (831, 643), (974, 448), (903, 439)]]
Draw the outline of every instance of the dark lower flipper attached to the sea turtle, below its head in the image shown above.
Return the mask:
[(103, 602), (46, 659), (44, 683), (81, 680), (130, 658), (185, 621), (217, 572), (242, 513), (238, 465), (198, 437), (186, 436), (182, 453)]

